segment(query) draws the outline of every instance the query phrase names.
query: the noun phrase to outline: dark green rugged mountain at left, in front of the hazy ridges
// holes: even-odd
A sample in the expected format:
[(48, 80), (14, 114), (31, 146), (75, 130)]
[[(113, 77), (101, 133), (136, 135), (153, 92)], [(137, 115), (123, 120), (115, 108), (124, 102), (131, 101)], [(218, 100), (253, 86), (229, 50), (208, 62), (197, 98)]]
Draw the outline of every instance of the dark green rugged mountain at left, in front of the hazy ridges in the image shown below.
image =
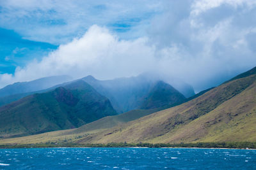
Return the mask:
[(109, 100), (88, 83), (74, 81), (0, 108), (0, 136), (24, 136), (70, 129), (116, 115)]

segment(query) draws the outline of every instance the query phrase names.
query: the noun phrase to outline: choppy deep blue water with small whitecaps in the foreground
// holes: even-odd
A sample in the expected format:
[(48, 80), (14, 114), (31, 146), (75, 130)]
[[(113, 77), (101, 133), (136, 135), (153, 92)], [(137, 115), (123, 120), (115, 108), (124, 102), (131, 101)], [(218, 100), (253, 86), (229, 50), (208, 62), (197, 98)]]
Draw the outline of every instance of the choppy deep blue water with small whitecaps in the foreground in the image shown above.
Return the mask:
[(0, 169), (255, 169), (256, 150), (189, 148), (1, 149)]

